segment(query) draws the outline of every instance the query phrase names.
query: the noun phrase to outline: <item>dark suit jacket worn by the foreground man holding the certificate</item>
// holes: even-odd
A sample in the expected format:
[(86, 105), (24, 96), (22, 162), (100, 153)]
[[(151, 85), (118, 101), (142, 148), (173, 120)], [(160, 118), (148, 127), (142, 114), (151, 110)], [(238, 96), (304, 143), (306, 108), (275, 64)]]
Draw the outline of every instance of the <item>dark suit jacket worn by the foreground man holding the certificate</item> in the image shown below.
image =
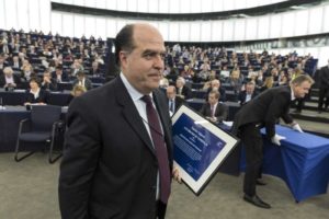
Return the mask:
[[(171, 119), (154, 91), (172, 170)], [(64, 219), (154, 219), (158, 161), (120, 77), (75, 97), (67, 115), (59, 205)]]

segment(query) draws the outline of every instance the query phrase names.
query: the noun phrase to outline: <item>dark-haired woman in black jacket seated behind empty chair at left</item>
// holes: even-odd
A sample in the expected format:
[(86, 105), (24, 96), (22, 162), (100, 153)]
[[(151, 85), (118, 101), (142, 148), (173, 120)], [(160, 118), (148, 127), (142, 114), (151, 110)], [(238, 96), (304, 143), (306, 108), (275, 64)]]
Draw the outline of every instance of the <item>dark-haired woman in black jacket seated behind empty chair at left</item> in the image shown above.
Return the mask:
[(30, 89), (26, 90), (26, 97), (24, 105), (39, 104), (46, 105), (48, 103), (48, 92), (41, 89), (38, 78), (30, 79)]

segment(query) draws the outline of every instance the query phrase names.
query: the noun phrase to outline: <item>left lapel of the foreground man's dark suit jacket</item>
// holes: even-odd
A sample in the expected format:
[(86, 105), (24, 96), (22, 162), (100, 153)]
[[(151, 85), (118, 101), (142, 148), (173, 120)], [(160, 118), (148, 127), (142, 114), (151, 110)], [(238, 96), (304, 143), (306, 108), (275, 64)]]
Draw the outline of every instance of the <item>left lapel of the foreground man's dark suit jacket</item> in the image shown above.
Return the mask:
[(135, 132), (145, 142), (146, 147), (151, 151), (154, 155), (156, 155), (150, 137), (145, 128), (144, 122), (140, 118), (140, 115), (135, 104), (133, 103), (133, 100), (129, 96), (128, 91), (126, 90), (120, 77), (117, 77), (115, 80), (115, 96), (117, 103), (123, 107), (123, 116), (125, 117), (127, 123), (133, 127)]

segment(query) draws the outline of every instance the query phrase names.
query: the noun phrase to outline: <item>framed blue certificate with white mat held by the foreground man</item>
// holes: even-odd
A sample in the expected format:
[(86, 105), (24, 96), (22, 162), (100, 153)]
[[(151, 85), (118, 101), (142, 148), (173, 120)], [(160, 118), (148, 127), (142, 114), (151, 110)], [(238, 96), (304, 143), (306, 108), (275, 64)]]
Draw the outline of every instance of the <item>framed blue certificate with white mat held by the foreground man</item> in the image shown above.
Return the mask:
[(200, 195), (238, 139), (182, 105), (172, 117), (173, 161), (183, 182)]

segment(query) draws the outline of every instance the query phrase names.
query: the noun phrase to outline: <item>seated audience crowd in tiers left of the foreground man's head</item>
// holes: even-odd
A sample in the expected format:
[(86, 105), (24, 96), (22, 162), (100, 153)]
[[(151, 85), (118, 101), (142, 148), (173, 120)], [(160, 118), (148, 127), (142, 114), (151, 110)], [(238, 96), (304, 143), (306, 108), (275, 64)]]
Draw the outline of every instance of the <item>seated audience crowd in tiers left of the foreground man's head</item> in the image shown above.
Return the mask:
[(43, 78), (42, 73), (46, 69), (56, 78), (55, 69), (60, 67), (63, 76), (67, 74), (68, 79), (64, 76), (63, 79), (56, 79), (57, 82), (72, 81), (80, 70), (93, 77), (104, 77), (106, 43), (101, 38), (71, 38), (36, 31), (24, 33), (22, 30), (0, 30), (0, 74), (4, 67), (12, 67), (21, 82), (29, 82), (33, 77)]

